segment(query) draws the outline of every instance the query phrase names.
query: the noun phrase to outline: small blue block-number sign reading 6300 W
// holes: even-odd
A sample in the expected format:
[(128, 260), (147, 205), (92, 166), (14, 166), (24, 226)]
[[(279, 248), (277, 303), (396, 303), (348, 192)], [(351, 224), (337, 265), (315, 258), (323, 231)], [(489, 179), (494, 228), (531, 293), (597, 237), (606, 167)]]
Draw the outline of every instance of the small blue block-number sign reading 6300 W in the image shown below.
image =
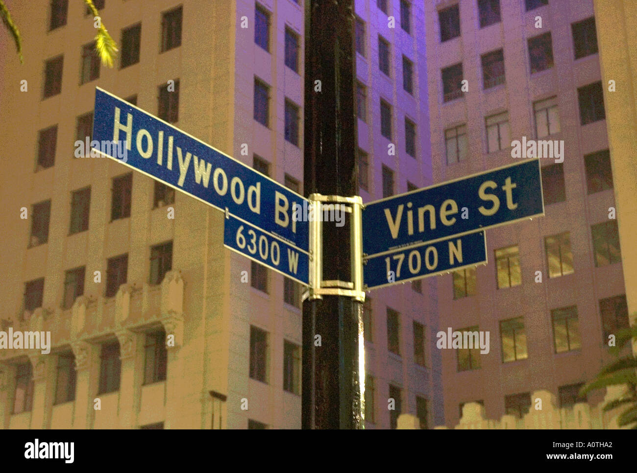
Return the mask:
[(308, 253), (231, 215), (225, 219), (224, 246), (299, 283), (309, 283)]

